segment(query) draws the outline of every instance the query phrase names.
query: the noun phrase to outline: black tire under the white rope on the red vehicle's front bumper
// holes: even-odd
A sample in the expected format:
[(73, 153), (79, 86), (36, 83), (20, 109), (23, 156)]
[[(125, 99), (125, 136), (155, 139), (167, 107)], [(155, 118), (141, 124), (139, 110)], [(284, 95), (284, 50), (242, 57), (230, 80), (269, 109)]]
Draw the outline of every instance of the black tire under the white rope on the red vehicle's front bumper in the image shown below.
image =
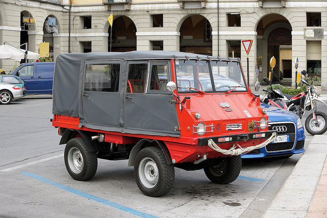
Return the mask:
[(206, 177), (217, 184), (228, 184), (237, 179), (242, 167), (241, 155), (222, 158), (216, 165), (204, 168)]

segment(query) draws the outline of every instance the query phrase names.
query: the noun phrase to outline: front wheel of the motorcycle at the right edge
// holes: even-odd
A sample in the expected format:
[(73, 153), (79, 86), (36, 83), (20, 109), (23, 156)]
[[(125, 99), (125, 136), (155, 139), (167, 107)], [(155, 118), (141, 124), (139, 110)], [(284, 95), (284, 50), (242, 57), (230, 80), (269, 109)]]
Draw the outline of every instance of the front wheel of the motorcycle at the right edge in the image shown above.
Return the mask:
[(322, 135), (327, 130), (327, 115), (321, 111), (316, 112), (317, 120), (313, 119), (312, 113), (307, 117), (305, 127), (311, 135)]

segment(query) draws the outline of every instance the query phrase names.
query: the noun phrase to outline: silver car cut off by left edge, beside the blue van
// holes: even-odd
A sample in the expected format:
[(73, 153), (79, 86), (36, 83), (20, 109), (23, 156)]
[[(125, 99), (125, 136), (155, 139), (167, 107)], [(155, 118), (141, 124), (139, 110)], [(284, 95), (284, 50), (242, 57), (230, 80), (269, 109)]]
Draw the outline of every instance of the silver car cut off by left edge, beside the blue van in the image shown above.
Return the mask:
[(0, 104), (8, 105), (12, 100), (22, 98), (22, 89), (18, 86), (0, 83)]

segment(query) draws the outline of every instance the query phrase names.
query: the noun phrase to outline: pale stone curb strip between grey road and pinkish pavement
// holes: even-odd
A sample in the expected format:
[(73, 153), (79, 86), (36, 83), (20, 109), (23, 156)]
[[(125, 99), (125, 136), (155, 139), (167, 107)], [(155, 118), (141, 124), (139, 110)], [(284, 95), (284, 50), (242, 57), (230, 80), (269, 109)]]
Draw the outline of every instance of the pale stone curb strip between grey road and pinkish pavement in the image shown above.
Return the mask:
[(313, 137), (263, 217), (306, 217), (326, 160), (326, 146), (327, 135)]

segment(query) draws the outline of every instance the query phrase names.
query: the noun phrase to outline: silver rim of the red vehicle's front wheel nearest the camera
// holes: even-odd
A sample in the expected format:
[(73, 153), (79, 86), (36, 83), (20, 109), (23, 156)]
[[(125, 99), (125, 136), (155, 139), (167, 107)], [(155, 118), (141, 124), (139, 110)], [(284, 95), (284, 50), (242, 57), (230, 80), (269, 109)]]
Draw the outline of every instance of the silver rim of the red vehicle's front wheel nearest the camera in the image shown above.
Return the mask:
[(149, 157), (141, 160), (138, 166), (138, 176), (147, 188), (153, 188), (159, 179), (157, 164)]

